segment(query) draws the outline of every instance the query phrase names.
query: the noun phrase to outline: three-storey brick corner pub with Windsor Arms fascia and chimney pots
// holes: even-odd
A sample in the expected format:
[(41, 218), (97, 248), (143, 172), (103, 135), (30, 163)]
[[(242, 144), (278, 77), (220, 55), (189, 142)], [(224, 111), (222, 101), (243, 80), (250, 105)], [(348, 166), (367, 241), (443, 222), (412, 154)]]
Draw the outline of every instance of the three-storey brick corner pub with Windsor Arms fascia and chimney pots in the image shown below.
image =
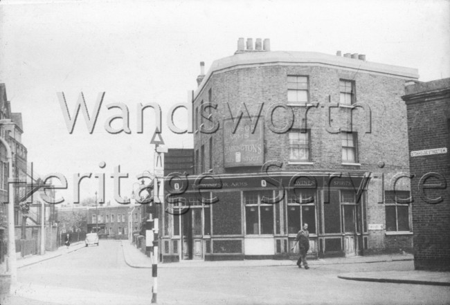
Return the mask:
[(165, 180), (184, 192), (161, 215), (163, 261), (292, 259), (303, 223), (311, 257), (413, 250), (411, 208), (396, 198), (410, 194), (401, 97), (416, 69), (271, 51), (268, 39), (239, 39), (233, 56), (203, 66), (195, 175)]

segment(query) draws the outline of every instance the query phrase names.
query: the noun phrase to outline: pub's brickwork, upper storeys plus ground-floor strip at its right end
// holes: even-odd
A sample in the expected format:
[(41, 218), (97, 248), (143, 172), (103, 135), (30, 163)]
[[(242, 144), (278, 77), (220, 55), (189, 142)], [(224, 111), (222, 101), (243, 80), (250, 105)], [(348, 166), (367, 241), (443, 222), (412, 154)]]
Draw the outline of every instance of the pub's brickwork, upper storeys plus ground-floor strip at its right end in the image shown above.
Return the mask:
[[(273, 103), (287, 104), (287, 75), (305, 75), (309, 77), (309, 102), (319, 103), (307, 112), (307, 128), (311, 130), (310, 165), (289, 164), (289, 134), (274, 133), (269, 129), (269, 117), (267, 110)], [(357, 102), (363, 102), (371, 111), (371, 132), (368, 131), (367, 118), (362, 109), (353, 110), (353, 129), (358, 133), (357, 162), (360, 165), (343, 165), (341, 157), (341, 135), (327, 131), (328, 102), (339, 102), (339, 80), (353, 80), (356, 86)], [(384, 183), (374, 179), (368, 188), (367, 222), (381, 223), (385, 227), (385, 209), (383, 204), (378, 204), (378, 188), (390, 190), (389, 179), (400, 172), (409, 172), (408, 138), (406, 105), (402, 100), (404, 95), (404, 82), (408, 77), (394, 77), (384, 73), (370, 73), (348, 68), (336, 68), (327, 65), (260, 65), (226, 68), (215, 71), (210, 75), (206, 84), (195, 98), (194, 111), (200, 109), (201, 101), (208, 101), (208, 91), (212, 89), (212, 102), (218, 105), (213, 111), (213, 120), (220, 123), (219, 129), (213, 134), (197, 132), (194, 136), (194, 150), (205, 146), (205, 167), (209, 164), (209, 140), (213, 139), (213, 173), (253, 173), (260, 172), (260, 167), (224, 167), (224, 126), (223, 120), (230, 118), (231, 109), (233, 116), (237, 115), (243, 102), (246, 103), (250, 113), (257, 113), (260, 103), (264, 103), (259, 124), (264, 124), (264, 162), (276, 160), (282, 162), (282, 170), (298, 172), (342, 172), (361, 173), (372, 172), (375, 176), (384, 176)], [(294, 128), (304, 127), (305, 107), (292, 107), (294, 112)], [(331, 109), (332, 127), (348, 129), (350, 121), (350, 109), (341, 107)], [(278, 109), (273, 113), (273, 124), (282, 127), (286, 124), (290, 112)], [(200, 122), (200, 120), (199, 120)], [(205, 126), (210, 124), (204, 119)], [(201, 160), (200, 160), (201, 162)], [(379, 166), (382, 164), (381, 166)], [(373, 177), (375, 177), (373, 176)], [(397, 185), (397, 190), (409, 190), (407, 179), (402, 179)], [(236, 195), (237, 197), (237, 195)], [(240, 200), (229, 201), (231, 205), (237, 205)], [(228, 216), (233, 214), (224, 207), (221, 197), (220, 207), (213, 210), (213, 234), (215, 226), (220, 232), (231, 232), (226, 228), (226, 221), (231, 221)], [(228, 201), (227, 201), (228, 203)], [(234, 208), (234, 207), (233, 207)], [(237, 211), (237, 206), (235, 207)], [(339, 210), (338, 210), (339, 212)], [(222, 214), (225, 213), (225, 214)], [(240, 217), (240, 210), (239, 210)], [(339, 214), (336, 215), (339, 217)], [(219, 223), (216, 223), (218, 221)], [(326, 222), (326, 220), (325, 220)], [(240, 230), (240, 219), (233, 223)], [(412, 228), (412, 225), (410, 225)], [(219, 229), (220, 228), (220, 229)], [(385, 229), (385, 228), (384, 228)], [(222, 231), (223, 230), (223, 231)], [(230, 234), (230, 233), (224, 233)], [(240, 232), (233, 233), (240, 234)], [(399, 237), (404, 240), (406, 246), (401, 248), (411, 249), (412, 237), (406, 235)], [(391, 239), (390, 239), (391, 240)], [(368, 247), (375, 251), (388, 251), (392, 249), (388, 245), (385, 230), (370, 231), (368, 235)], [(400, 248), (400, 247), (399, 247)]]

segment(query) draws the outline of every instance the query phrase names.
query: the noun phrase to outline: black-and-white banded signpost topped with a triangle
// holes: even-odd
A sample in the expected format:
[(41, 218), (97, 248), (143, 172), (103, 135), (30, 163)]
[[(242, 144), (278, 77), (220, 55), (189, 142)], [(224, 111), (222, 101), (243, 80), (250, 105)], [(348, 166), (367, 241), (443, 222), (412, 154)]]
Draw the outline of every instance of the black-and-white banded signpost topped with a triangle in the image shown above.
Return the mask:
[(153, 180), (153, 255), (152, 255), (152, 303), (156, 303), (156, 296), (158, 294), (158, 260), (159, 260), (159, 205), (164, 201), (164, 154), (168, 152), (164, 145), (164, 140), (161, 137), (159, 129), (156, 128), (152, 141), (150, 144), (155, 145), (154, 152), (154, 180)]

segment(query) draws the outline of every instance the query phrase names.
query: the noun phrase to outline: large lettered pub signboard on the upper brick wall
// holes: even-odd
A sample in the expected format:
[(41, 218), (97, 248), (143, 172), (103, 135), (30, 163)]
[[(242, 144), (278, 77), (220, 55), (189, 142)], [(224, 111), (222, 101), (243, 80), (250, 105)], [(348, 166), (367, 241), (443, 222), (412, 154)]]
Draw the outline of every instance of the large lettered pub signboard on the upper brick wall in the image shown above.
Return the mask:
[[(253, 118), (253, 122), (255, 122)], [(252, 133), (253, 131), (253, 133)], [(233, 120), (224, 120), (224, 167), (261, 166), (264, 164), (264, 121), (256, 127), (242, 117), (233, 133)]]

